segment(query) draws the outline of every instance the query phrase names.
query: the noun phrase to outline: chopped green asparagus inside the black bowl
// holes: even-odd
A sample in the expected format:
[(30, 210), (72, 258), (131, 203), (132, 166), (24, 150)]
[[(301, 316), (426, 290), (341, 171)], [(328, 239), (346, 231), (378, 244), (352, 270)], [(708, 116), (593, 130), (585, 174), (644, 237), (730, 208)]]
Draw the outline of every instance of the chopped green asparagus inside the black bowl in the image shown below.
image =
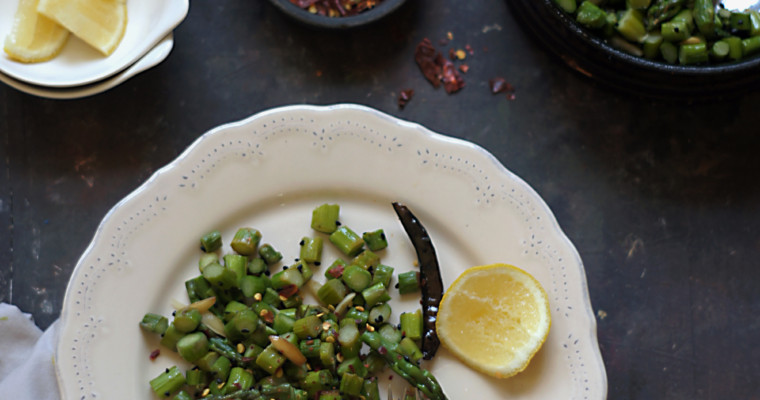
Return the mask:
[(760, 53), (760, 11), (713, 0), (555, 0), (612, 46), (668, 64), (738, 61)]

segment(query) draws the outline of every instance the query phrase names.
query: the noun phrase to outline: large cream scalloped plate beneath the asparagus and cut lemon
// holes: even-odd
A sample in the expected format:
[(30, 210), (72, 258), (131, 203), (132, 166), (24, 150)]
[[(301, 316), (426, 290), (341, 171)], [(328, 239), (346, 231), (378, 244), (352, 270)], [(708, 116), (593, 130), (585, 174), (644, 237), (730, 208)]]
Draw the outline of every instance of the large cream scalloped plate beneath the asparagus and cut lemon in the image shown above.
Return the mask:
[[(300, 238), (314, 234), (311, 209), (337, 202), (343, 223), (386, 231), (383, 261), (403, 272), (415, 255), (392, 201), (431, 234), (444, 285), (470, 266), (506, 262), (550, 297), (549, 337), (516, 377), (488, 378), (443, 349), (425, 363), (450, 399), (606, 398), (583, 265), (536, 192), (472, 143), (336, 105), (283, 107), (216, 128), (108, 213), (64, 300), (56, 355), (63, 399), (152, 398), (148, 381), (180, 361), (168, 351), (150, 361), (157, 341), (138, 322), (148, 311), (168, 315), (172, 299), (187, 301), (183, 281), (198, 274), (203, 233), (218, 228), (229, 239), (255, 226), (289, 261)], [(326, 260), (336, 256), (325, 248)], [(418, 302), (396, 296), (396, 321)], [(394, 392), (401, 381), (391, 381)]]

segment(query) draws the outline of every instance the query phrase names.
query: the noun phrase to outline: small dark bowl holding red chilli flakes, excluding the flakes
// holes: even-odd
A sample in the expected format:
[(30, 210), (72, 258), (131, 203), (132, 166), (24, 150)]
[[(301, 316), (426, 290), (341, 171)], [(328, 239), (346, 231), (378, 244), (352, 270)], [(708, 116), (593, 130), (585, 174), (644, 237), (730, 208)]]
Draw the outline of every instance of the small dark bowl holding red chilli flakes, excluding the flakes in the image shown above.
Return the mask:
[(399, 8), (406, 0), (383, 0), (371, 10), (347, 17), (326, 17), (312, 14), (290, 2), (290, 0), (269, 0), (285, 14), (299, 22), (317, 28), (348, 29), (377, 21)]

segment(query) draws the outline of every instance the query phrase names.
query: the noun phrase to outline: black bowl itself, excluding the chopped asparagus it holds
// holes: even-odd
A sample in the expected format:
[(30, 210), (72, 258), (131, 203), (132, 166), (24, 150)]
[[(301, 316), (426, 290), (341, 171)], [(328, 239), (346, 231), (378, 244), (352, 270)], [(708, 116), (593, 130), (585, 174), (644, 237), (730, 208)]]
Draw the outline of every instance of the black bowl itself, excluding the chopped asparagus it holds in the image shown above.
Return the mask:
[(760, 56), (713, 65), (671, 65), (612, 47), (560, 10), (553, 0), (507, 2), (523, 28), (568, 66), (629, 93), (709, 100), (746, 91), (760, 77)]

